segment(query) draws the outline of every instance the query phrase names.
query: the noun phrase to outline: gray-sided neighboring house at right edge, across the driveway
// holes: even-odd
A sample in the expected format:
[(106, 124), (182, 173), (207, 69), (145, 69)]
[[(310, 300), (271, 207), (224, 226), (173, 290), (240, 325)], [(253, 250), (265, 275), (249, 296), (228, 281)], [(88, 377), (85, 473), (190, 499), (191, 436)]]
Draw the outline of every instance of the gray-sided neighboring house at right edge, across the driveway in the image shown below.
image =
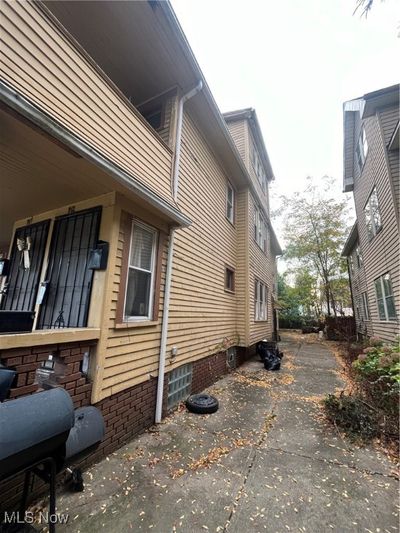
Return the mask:
[(357, 331), (386, 341), (400, 318), (398, 124), (398, 85), (344, 104), (344, 190), (353, 191), (357, 221), (343, 255)]

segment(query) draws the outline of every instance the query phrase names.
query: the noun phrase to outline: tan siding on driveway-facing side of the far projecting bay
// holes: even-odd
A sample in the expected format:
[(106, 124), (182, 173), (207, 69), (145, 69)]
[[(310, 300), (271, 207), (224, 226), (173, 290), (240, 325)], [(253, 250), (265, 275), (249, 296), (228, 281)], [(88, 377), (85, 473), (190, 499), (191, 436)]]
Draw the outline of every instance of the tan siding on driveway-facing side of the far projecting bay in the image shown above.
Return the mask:
[[(248, 232), (249, 232), (249, 345), (267, 338), (272, 338), (273, 319), (272, 319), (272, 305), (271, 294), (274, 292), (274, 273), (275, 273), (275, 259), (271, 254), (267, 255), (260, 249), (254, 239), (254, 207), (255, 199), (248, 194)], [(268, 235), (268, 243), (270, 242), (270, 235)], [(269, 248), (269, 245), (268, 245)], [(254, 302), (254, 283), (258, 279), (268, 287), (268, 312), (266, 321), (255, 320), (255, 302)]]

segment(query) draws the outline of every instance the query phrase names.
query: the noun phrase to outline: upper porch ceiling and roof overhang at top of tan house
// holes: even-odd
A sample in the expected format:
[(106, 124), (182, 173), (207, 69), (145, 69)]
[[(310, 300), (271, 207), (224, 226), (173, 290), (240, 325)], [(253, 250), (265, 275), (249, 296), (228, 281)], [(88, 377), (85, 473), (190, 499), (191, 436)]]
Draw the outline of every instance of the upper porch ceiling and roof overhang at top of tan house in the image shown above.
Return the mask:
[(44, 1), (43, 4), (122, 93), (138, 106), (199, 80), (187, 108), (238, 188), (246, 170), (168, 1)]

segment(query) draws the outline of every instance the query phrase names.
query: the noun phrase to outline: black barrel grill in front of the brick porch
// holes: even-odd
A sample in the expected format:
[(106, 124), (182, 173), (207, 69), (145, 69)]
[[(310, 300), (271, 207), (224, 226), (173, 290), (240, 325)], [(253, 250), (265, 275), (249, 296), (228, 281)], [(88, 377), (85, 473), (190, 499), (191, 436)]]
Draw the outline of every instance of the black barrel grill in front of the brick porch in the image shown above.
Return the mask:
[[(0, 396), (11, 384), (0, 367)], [(32, 473), (49, 484), (49, 513), (55, 515), (56, 474), (93, 451), (104, 437), (104, 420), (93, 406), (74, 411), (68, 392), (56, 387), (0, 403), (0, 480), (25, 473), (20, 516), (25, 513)], [(49, 524), (55, 531), (54, 523)]]

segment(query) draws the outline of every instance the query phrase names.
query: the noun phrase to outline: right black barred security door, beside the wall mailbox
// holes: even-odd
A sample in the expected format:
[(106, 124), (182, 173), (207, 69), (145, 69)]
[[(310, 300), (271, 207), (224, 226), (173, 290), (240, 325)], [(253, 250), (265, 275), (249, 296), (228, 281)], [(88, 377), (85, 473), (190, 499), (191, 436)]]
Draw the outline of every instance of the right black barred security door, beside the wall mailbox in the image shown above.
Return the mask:
[(88, 259), (98, 240), (100, 217), (98, 207), (55, 220), (38, 329), (87, 325), (93, 278)]

